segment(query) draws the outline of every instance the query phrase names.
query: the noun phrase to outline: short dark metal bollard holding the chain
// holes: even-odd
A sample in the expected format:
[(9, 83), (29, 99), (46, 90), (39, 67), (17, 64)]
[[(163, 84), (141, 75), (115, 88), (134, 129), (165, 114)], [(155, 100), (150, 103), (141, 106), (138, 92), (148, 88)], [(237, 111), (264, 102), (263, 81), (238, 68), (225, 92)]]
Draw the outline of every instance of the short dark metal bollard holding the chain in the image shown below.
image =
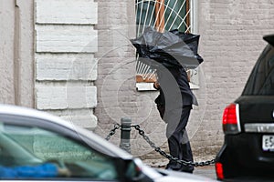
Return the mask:
[(131, 153), (131, 125), (132, 119), (121, 117), (121, 143), (120, 147)]

